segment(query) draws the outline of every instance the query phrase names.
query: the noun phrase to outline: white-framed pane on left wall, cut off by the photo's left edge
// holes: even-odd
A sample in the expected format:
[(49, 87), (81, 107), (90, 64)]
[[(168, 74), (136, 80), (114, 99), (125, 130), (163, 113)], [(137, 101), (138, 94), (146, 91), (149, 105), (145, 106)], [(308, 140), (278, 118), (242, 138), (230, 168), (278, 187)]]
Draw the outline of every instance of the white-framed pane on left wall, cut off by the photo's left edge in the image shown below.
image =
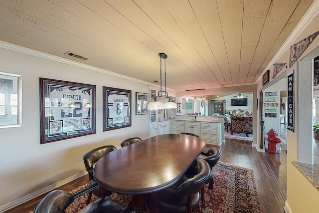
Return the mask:
[(21, 126), (21, 75), (0, 72), (0, 128)]

